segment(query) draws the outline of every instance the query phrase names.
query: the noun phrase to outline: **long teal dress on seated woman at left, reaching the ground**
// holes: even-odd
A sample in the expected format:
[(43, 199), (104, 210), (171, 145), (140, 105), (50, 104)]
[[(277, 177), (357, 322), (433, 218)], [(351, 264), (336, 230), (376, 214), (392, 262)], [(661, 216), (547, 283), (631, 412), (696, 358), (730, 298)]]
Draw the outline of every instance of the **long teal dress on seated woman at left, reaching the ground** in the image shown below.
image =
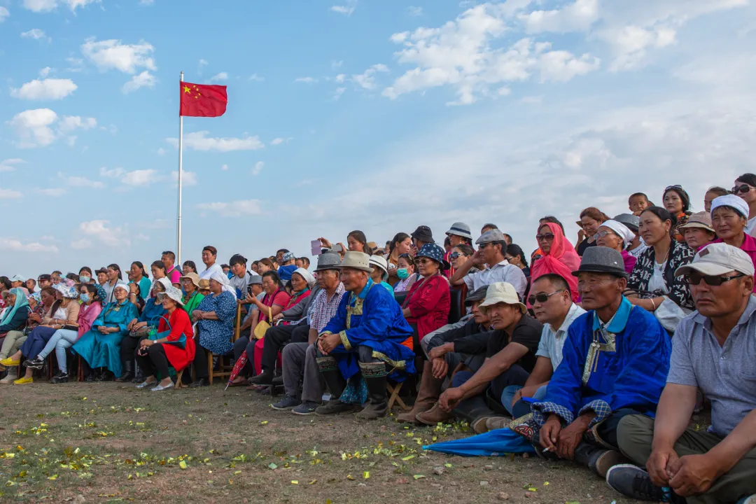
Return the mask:
[[(129, 301), (108, 303), (100, 316), (92, 323), (92, 328), (85, 332), (73, 344), (71, 350), (82, 356), (92, 369), (107, 367), (116, 376), (121, 376), (120, 345), (125, 335), (129, 334), (126, 326), (139, 317), (137, 307)], [(119, 332), (102, 334), (100, 326), (117, 327)]]

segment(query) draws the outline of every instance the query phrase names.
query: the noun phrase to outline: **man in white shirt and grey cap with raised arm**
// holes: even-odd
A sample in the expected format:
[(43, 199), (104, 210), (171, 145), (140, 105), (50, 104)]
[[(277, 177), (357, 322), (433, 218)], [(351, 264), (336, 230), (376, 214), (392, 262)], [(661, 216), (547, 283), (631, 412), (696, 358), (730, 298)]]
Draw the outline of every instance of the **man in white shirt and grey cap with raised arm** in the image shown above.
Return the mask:
[[(452, 285), (465, 284), (469, 291), (474, 291), (491, 283), (506, 282), (512, 285), (519, 298), (525, 295), (528, 288), (528, 279), (519, 267), (507, 261), (507, 242), (500, 230), (492, 229), (483, 233), (476, 245), (478, 251), (469, 258), (459, 270), (451, 276)], [(469, 273), (473, 266), (486, 264), (488, 267), (477, 273)]]

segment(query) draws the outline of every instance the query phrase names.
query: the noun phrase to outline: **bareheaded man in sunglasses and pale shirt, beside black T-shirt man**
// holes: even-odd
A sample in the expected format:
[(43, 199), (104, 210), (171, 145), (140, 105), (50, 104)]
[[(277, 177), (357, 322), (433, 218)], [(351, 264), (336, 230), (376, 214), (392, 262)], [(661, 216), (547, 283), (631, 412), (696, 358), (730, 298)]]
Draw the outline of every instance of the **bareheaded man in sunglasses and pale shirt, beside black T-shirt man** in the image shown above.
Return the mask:
[[(510, 385), (501, 396), (501, 404), (516, 419), (530, 413), (531, 402), (546, 396), (549, 379), (562, 362), (562, 348), (569, 326), (585, 313), (583, 308), (572, 302), (567, 280), (553, 273), (538, 277), (533, 282), (528, 302), (533, 307), (535, 318), (544, 324), (544, 331), (541, 332), (541, 342), (536, 352), (538, 361), (525, 386)], [(523, 397), (531, 400), (525, 401)], [(489, 430), (507, 425), (507, 419), (489, 419), (487, 422)]]

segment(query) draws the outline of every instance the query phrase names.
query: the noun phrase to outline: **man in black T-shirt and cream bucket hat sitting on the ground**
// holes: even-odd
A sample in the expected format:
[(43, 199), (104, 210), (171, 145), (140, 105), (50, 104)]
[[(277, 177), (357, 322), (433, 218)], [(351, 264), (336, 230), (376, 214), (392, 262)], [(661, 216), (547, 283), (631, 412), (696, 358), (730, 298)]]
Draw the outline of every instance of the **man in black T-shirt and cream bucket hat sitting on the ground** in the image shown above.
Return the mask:
[(454, 415), (468, 420), (481, 433), (488, 430), (485, 424), (489, 418), (506, 413), (500, 403), (504, 388), (525, 385), (528, 380), (543, 326), (525, 313), (525, 305), (510, 283), (488, 286), (479, 309), (488, 314), (495, 329), (485, 345), (485, 362), (475, 373), (454, 373), (451, 388), (441, 394), (435, 408), (454, 410)]

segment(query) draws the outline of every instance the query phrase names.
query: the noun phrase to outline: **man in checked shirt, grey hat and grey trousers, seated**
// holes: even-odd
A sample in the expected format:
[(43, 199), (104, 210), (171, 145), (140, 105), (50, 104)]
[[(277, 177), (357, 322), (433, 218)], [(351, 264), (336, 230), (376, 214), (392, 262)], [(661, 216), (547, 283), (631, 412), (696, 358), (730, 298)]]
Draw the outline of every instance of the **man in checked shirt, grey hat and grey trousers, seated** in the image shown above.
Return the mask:
[[(283, 388), (286, 397), (273, 404), (274, 410), (292, 410), (295, 415), (312, 415), (321, 404), (325, 382), (318, 369), (317, 350), (313, 345), (330, 322), (344, 295), (340, 280), (338, 254), (327, 252), (318, 256), (318, 286), (311, 305), (307, 343), (290, 343), (283, 347)], [(267, 335), (265, 336), (267, 338)], [(300, 387), (301, 384), (301, 387)]]

